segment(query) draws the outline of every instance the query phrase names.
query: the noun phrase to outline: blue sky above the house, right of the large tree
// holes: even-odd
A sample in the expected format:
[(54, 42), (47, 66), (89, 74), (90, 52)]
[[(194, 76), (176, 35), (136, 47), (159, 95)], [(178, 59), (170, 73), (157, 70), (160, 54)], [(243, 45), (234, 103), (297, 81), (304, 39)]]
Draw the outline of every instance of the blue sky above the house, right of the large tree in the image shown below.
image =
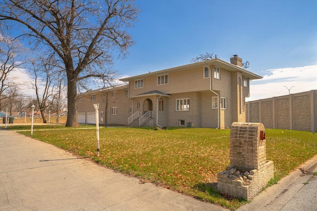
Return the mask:
[[(292, 73), (292, 68), (306, 67), (309, 73), (314, 69), (317, 72), (316, 0), (135, 2), (142, 10), (139, 21), (129, 30), (136, 44), (129, 49), (127, 58), (116, 61), (115, 65), (122, 75), (134, 76), (189, 64), (191, 58), (206, 52), (215, 53), (225, 61), (237, 54), (250, 62), (249, 71), (266, 76), (263, 82), (251, 83), (251, 93), (253, 84), (278, 85), (279, 82), (283, 92), (276, 94), (283, 95), (288, 94), (283, 86), (293, 85), (292, 80), (283, 81), (283, 77), (301, 81), (297, 77), (303, 71), (295, 71), (298, 76)], [(284, 70), (284, 75), (270, 81), (270, 76), (280, 72), (279, 69)], [(317, 82), (314, 75), (310, 80)], [(291, 91), (317, 89), (317, 85), (304, 85), (304, 89), (299, 86)]]

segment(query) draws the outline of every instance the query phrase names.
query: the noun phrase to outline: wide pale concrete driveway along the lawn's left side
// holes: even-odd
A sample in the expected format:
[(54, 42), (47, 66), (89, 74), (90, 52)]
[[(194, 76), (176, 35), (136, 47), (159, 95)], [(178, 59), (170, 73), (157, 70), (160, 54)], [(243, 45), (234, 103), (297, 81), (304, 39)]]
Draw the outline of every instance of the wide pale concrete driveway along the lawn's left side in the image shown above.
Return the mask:
[(0, 129), (0, 210), (211, 210), (221, 207), (140, 183), (53, 145)]

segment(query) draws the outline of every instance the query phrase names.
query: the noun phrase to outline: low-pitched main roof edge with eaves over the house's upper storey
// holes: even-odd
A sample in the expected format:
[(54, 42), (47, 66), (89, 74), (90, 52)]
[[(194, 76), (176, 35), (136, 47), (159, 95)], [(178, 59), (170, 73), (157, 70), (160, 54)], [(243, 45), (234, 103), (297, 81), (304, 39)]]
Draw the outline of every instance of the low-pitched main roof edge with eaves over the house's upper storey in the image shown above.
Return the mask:
[(231, 64), (229, 62), (223, 61), (221, 59), (215, 58), (215, 59), (211, 59), (211, 60), (207, 60), (207, 61), (203, 61), (203, 62), (191, 63), (191, 64), (187, 64), (187, 65), (182, 65), (182, 66), (178, 66), (178, 67), (173, 67), (173, 68), (169, 68), (169, 69), (164, 69), (164, 70), (159, 70), (159, 71), (155, 71), (155, 72), (151, 72), (151, 73), (146, 73), (146, 74), (142, 74), (142, 75), (138, 75), (138, 76), (123, 78), (123, 79), (120, 79), (120, 81), (128, 82), (130, 80), (136, 80), (136, 79), (140, 79), (140, 78), (148, 78), (148, 77), (152, 77), (152, 76), (156, 76), (156, 75), (173, 73), (173, 72), (177, 72), (177, 71), (188, 70), (188, 69), (193, 69), (193, 68), (203, 67), (203, 66), (208, 66), (208, 65), (213, 65), (213, 66), (228, 70), (230, 72), (239, 71), (242, 73), (243, 76), (245, 76), (246, 78), (249, 78), (251, 80), (263, 78), (262, 76), (259, 76), (259, 75), (252, 73), (246, 69), (243, 69), (242, 67), (239, 67), (237, 65), (234, 65), (234, 64)]

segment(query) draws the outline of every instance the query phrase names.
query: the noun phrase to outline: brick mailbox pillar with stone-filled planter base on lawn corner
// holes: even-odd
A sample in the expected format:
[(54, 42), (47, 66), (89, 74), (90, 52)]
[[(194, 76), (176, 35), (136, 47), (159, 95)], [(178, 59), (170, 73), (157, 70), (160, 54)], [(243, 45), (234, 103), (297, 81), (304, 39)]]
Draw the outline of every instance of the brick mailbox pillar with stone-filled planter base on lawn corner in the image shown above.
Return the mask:
[(233, 123), (230, 131), (230, 166), (217, 174), (218, 191), (250, 200), (273, 176), (273, 162), (266, 161), (264, 125)]

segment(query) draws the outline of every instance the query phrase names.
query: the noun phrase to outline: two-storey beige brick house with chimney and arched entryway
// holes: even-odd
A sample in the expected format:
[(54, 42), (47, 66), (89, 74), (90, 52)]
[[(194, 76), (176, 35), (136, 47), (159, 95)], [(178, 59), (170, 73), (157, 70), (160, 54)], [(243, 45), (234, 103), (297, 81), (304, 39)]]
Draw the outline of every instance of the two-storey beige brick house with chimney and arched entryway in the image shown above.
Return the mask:
[[(237, 55), (230, 63), (215, 58), (124, 78), (121, 81), (128, 85), (106, 92), (85, 93), (79, 98), (78, 112), (86, 113), (86, 123), (89, 123), (87, 109), (94, 113), (93, 97), (89, 95), (96, 93), (95, 101), (98, 101), (97, 93), (100, 98), (105, 98), (107, 93), (105, 103), (98, 101), (103, 105), (100, 108), (104, 108), (99, 109), (105, 114), (103, 124), (227, 128), (233, 122), (245, 122), (244, 102), (250, 94), (249, 81), (261, 78), (243, 69), (242, 59)], [(109, 94), (113, 91), (116, 94), (112, 102)], [(116, 115), (113, 115), (114, 108)], [(82, 120), (79, 118), (80, 123)]]

